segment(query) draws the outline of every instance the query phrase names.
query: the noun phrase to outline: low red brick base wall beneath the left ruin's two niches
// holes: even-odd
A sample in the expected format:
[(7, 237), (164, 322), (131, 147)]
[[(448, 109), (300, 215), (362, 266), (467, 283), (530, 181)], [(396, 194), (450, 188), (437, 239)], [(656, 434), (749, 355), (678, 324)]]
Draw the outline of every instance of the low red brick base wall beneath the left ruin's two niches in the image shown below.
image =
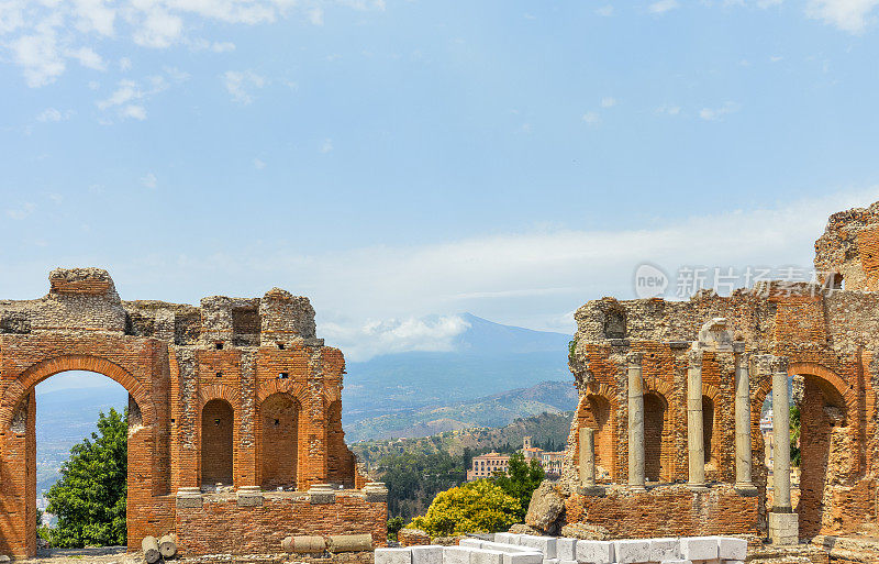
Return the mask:
[(387, 505), (357, 496), (312, 505), (308, 496), (267, 494), (262, 507), (238, 507), (234, 497), (205, 496), (200, 508), (177, 509), (181, 554), (279, 553), (281, 540), (298, 534), (371, 533), (387, 542)]

